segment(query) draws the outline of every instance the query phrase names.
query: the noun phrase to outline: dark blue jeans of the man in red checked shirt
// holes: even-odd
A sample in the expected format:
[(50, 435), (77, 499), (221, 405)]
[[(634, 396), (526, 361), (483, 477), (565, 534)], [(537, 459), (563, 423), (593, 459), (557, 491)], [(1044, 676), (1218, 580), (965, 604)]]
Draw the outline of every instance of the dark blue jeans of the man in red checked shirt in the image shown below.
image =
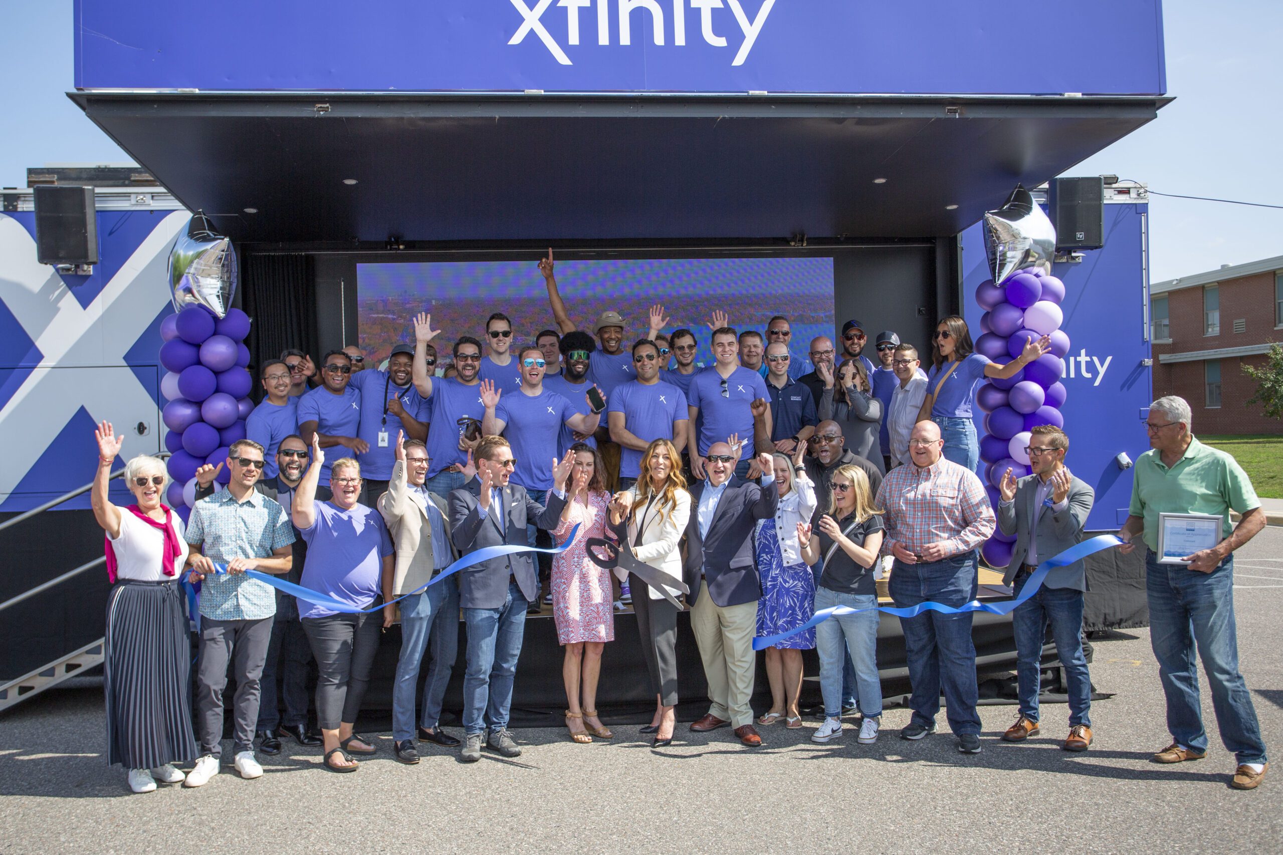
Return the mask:
[[(926, 601), (965, 605), (976, 595), (975, 550), (924, 564), (896, 561), (888, 587), (890, 599), (902, 608)], [(979, 687), (971, 614), (924, 611), (899, 620), (905, 631), (908, 679), (913, 685), (908, 700), (913, 708), (912, 720), (926, 727), (935, 723), (943, 685), (946, 714), (958, 736), (980, 732), (980, 717), (975, 711)]]

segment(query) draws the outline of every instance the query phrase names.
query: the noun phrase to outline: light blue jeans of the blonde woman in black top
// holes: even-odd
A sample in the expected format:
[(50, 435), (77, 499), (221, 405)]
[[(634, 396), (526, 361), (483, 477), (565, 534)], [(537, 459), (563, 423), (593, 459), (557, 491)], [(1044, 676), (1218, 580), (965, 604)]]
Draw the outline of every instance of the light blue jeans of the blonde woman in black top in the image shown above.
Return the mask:
[(870, 609), (860, 614), (829, 618), (815, 628), (815, 649), (820, 654), (820, 692), (824, 695), (824, 714), (842, 715), (844, 664), (853, 663), (856, 677), (852, 682), (860, 711), (865, 718), (881, 715), (881, 682), (878, 677), (878, 624), (881, 620), (878, 596), (874, 594), (838, 594), (829, 588), (815, 590), (815, 610), (844, 605), (852, 609)]

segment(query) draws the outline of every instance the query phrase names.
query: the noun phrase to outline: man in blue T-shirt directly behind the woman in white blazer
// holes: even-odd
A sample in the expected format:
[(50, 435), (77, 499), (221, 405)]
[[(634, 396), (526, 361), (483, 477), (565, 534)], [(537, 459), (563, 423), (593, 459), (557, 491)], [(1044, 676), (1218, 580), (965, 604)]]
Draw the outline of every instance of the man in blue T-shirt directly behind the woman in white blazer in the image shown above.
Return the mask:
[(659, 349), (653, 341), (636, 342), (633, 364), (638, 378), (615, 390), (607, 415), (611, 440), (624, 449), (620, 490), (627, 490), (642, 477), (642, 452), (653, 441), (672, 440), (679, 452), (686, 445), (686, 396), (659, 379)]

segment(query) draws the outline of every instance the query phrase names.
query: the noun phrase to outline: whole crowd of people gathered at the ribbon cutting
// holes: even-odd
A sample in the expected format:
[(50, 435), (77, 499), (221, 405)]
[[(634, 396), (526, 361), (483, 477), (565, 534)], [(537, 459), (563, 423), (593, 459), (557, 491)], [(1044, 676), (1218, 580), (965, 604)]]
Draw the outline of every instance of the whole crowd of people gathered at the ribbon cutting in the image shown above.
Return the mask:
[[(281, 737), (322, 745), (327, 769), (355, 772), (357, 758), (378, 750), (355, 723), (380, 629), (396, 620), (395, 759), (418, 763), (425, 743), (458, 747), (464, 761), (486, 747), (518, 756), (508, 722), (526, 614), (539, 602), (535, 554), (499, 550), (436, 577), (459, 556), (534, 547), (543, 537), (559, 547), (545, 590), (565, 647), (566, 726), (575, 742), (613, 736), (595, 696), (603, 651), (615, 640), (613, 604), (627, 590), (656, 697), (642, 729), (654, 746), (675, 738), (684, 608), (709, 700), (692, 731), (727, 727), (743, 745), (758, 746), (758, 727), (802, 727), (801, 651), (816, 649), (824, 719), (811, 738), (839, 738), (843, 714), (858, 710), (856, 738), (871, 743), (883, 713), (878, 578), (889, 573), (897, 606), (961, 606), (976, 596), (978, 549), (994, 527), (1016, 536), (1005, 577), (1016, 592), (1041, 561), (1082, 537), (1093, 491), (1065, 465), (1065, 431), (1034, 428), (1033, 474), (1016, 479), (1008, 472), (998, 508), (974, 472), (967, 426), (975, 386), (1015, 373), (1046, 341), (1032, 341), (1007, 365), (983, 363), (965, 323), (947, 318), (937, 328), (931, 373), (922, 376), (916, 349), (893, 332), (876, 336), (879, 365), (863, 358), (867, 338), (852, 320), (843, 327), (842, 360), (835, 364), (833, 344), (820, 337), (807, 354), (812, 369), (802, 373), (792, 364), (786, 318), (771, 319), (765, 347), (756, 332), (745, 347), (747, 333), (715, 317), (708, 326), (716, 361), (701, 369), (695, 333), (665, 336), (662, 308), (652, 310), (647, 337), (625, 349), (617, 313), (603, 313), (593, 336), (576, 329), (550, 253), (539, 269), (557, 329), (540, 332), (516, 355), (512, 324), (495, 313), (485, 326), (489, 353), (479, 338), (461, 336), (452, 376), (441, 376), (431, 345), (438, 331), (422, 314), (412, 324), (413, 346), (395, 346), (386, 369), (355, 370), (354, 356), (335, 350), (309, 390), (308, 376), (317, 372), (305, 355), (287, 351), (262, 365), (266, 397), (248, 438), (231, 446), (230, 482), (214, 491), (221, 467), (198, 473), (203, 497), (186, 527), (160, 504), (167, 476), (154, 458), (127, 465), (135, 505), (108, 501), (121, 440), (109, 424), (99, 426), (94, 509), (117, 581), (108, 611), (109, 760), (130, 769), (136, 791), (157, 781), (200, 786), (218, 773), (228, 664), (236, 681), (232, 758), (241, 777), (262, 774), (255, 740), (271, 755)], [(1184, 401), (1155, 401), (1148, 429), (1153, 450), (1137, 463), (1132, 515), (1119, 536), (1128, 541), (1124, 550), (1137, 535), (1148, 550), (1153, 646), (1173, 735), (1155, 759), (1192, 760), (1206, 749), (1192, 664), (1197, 641), (1223, 740), (1238, 756), (1234, 786), (1255, 787), (1266, 758), (1238, 674), (1232, 552), (1264, 515), (1234, 460), (1193, 438)], [(336, 447), (344, 456), (332, 459)], [(1188, 567), (1159, 564), (1157, 513), (1192, 509), (1224, 515), (1224, 540), (1191, 556)], [(1229, 509), (1242, 514), (1233, 528)], [(593, 538), (617, 545), (613, 569), (589, 546)], [(294, 601), (244, 573), (250, 569), (285, 574), (328, 599)], [(183, 576), (201, 586), (195, 733), (177, 591)], [(1052, 570), (1014, 611), (1020, 706), (1002, 738), (1039, 732), (1039, 661), (1049, 626), (1070, 692), (1061, 745), (1092, 745), (1079, 637), (1085, 590), (1076, 561)], [(334, 600), (344, 608), (330, 608)], [(830, 606), (852, 610), (798, 632)], [(439, 718), (461, 618), (467, 642), (458, 738)], [(901, 626), (912, 718), (899, 736), (920, 740), (935, 731), (943, 691), (958, 750), (979, 752), (971, 613), (926, 610)], [(753, 640), (777, 635), (788, 637), (765, 656), (771, 706), (754, 718)], [(308, 654), (318, 672), (319, 733), (307, 729)], [(431, 664), (416, 717), (426, 654)], [(284, 719), (276, 697), (282, 660)], [(186, 774), (174, 767), (189, 761), (195, 767)]]

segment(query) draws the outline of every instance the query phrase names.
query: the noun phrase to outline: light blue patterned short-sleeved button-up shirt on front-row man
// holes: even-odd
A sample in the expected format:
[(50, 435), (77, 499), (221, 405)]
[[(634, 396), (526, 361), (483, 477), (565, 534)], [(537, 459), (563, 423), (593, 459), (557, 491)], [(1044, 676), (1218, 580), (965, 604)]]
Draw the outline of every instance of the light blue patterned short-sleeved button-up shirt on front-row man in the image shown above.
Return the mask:
[[(236, 501), (230, 490), (201, 499), (191, 509), (187, 542), (204, 544), (212, 561), (271, 558), (294, 542), (294, 527), (280, 504), (257, 490)], [(244, 573), (207, 576), (200, 588), (200, 614), (212, 620), (262, 620), (276, 614), (276, 590)]]

